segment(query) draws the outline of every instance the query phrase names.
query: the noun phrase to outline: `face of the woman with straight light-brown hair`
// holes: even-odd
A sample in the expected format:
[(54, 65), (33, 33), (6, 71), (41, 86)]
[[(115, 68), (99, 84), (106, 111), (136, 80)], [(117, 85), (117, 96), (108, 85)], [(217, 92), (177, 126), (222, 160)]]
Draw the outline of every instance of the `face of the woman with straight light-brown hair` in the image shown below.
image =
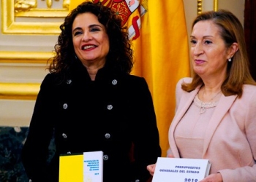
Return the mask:
[(199, 76), (225, 76), (228, 49), (220, 28), (211, 20), (197, 22), (190, 36), (192, 66)]

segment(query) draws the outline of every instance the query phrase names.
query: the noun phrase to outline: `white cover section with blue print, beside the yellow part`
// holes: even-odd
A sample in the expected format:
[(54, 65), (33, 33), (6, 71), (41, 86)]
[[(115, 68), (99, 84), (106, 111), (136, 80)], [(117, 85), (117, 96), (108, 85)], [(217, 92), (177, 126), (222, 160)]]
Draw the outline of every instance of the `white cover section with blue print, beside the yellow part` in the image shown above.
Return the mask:
[(83, 152), (83, 182), (103, 182), (103, 152)]

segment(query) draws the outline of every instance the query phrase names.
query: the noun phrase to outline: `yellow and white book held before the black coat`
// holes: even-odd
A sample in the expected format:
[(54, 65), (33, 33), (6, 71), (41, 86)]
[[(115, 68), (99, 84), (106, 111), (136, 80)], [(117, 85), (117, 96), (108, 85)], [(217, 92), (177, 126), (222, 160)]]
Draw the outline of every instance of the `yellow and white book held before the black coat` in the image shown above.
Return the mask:
[(103, 152), (61, 154), (59, 182), (103, 182)]

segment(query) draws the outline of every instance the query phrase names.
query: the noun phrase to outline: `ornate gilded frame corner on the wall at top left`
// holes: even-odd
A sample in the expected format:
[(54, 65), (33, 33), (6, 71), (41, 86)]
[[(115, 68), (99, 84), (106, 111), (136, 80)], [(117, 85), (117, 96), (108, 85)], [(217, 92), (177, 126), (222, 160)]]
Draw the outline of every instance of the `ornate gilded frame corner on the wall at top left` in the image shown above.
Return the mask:
[[(37, 0), (34, 0), (37, 1)], [(29, 4), (29, 3), (28, 3)], [(27, 4), (17, 6), (15, 0), (1, 0), (1, 29), (2, 33), (10, 34), (59, 34), (59, 25), (68, 14), (68, 6), (62, 9), (38, 9)], [(18, 21), (18, 17), (23, 20)], [(40, 21), (31, 21), (31, 17), (37, 17)], [(47, 19), (45, 18), (47, 17)]]

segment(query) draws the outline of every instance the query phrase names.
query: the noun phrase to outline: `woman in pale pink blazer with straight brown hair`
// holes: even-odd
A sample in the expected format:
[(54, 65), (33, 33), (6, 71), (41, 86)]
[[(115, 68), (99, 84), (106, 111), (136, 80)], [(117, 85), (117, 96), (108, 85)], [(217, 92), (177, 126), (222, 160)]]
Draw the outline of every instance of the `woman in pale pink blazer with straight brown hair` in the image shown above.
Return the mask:
[[(192, 23), (193, 78), (176, 87), (169, 157), (209, 159), (200, 182), (256, 181), (256, 83), (244, 30), (231, 12), (203, 12)], [(154, 174), (155, 165), (148, 165)]]

